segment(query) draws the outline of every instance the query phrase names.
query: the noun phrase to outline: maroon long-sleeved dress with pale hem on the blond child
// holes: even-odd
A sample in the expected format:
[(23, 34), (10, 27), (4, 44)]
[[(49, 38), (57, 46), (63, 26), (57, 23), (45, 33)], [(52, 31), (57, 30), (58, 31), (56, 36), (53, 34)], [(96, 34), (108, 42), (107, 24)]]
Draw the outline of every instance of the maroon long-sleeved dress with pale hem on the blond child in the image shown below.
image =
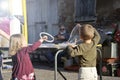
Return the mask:
[(17, 78), (18, 80), (35, 80), (34, 69), (29, 54), (40, 45), (41, 42), (37, 41), (31, 46), (23, 47), (17, 54), (12, 56), (12, 78)]

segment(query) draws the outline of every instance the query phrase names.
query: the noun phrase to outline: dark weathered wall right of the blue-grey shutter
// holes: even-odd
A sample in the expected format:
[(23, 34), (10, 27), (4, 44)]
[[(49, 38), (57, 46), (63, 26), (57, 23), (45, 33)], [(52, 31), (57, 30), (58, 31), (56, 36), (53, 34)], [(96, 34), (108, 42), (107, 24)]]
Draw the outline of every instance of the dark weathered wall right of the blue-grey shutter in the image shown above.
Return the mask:
[(97, 22), (109, 27), (112, 23), (120, 22), (120, 0), (97, 0)]

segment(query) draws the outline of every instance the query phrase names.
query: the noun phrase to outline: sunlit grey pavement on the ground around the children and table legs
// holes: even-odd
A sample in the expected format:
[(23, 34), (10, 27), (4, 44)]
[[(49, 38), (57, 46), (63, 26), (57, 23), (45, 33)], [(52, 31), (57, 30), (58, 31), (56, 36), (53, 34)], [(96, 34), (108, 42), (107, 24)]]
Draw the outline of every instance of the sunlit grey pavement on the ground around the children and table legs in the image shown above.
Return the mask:
[[(54, 67), (44, 64), (44, 62), (42, 64), (33, 64), (33, 66), (36, 74), (36, 80), (54, 80)], [(65, 76), (66, 80), (77, 80), (78, 73), (76, 71), (67, 71), (61, 67), (59, 67), (59, 70)], [(4, 80), (10, 80), (11, 68), (3, 69), (2, 75)], [(64, 80), (59, 73), (57, 80)], [(100, 77), (98, 80), (100, 80)], [(102, 80), (120, 80), (120, 77), (102, 76)]]

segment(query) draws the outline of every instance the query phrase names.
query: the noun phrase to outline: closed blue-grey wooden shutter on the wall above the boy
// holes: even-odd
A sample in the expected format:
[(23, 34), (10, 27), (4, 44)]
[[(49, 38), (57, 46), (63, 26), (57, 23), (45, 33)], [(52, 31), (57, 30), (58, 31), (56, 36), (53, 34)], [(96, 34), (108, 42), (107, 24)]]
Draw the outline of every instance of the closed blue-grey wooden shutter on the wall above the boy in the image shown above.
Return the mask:
[(96, 0), (75, 0), (75, 22), (96, 20)]

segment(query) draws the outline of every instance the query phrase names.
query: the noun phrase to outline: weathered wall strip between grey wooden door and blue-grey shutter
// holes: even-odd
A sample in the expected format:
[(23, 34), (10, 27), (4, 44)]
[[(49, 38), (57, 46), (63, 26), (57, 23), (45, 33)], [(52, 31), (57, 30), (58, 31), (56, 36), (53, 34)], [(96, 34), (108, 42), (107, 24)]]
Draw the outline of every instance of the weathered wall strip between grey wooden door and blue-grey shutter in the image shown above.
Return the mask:
[(58, 0), (59, 25), (64, 24), (69, 30), (74, 25), (74, 1)]

